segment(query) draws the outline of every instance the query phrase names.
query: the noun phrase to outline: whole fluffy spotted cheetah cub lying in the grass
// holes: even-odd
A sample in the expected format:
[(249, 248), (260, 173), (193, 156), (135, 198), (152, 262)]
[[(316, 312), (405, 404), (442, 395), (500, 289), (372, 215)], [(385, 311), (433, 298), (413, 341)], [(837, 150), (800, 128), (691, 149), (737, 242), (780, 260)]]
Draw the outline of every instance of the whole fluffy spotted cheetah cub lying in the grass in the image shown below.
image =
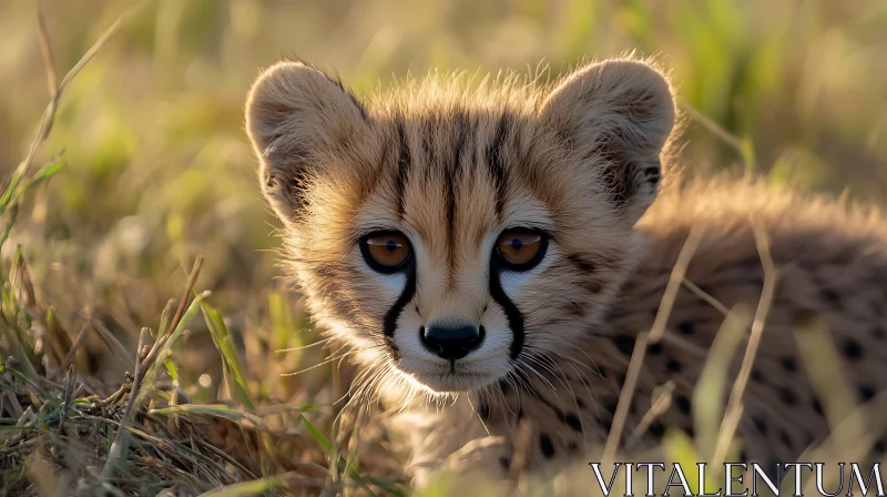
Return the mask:
[[(747, 310), (721, 361), (724, 398), (705, 399), (723, 406), (759, 302), (769, 310), (745, 373), (742, 462), (795, 462), (855, 404), (877, 404), (887, 384), (877, 213), (747, 179), (661, 189), (674, 94), (646, 61), (585, 64), (551, 85), (469, 83), (429, 75), (358, 99), (281, 62), (246, 104), (287, 267), (366, 383), (411, 403), (389, 424), (412, 434), (416, 467), (488, 435), (503, 442), (476, 465), (487, 471), (518, 457), (527, 469), (587, 460), (618, 418), (635, 343), (691, 233), (699, 243), (664, 334), (619, 406), (620, 450), (655, 449), (671, 428), (703, 435), (694, 388), (708, 351), (725, 315)], [(817, 353), (834, 361), (810, 367)], [(816, 378), (847, 387), (828, 402)], [(670, 402), (651, 410), (661, 392)], [(876, 419), (855, 423), (854, 446), (869, 456), (884, 447)]]

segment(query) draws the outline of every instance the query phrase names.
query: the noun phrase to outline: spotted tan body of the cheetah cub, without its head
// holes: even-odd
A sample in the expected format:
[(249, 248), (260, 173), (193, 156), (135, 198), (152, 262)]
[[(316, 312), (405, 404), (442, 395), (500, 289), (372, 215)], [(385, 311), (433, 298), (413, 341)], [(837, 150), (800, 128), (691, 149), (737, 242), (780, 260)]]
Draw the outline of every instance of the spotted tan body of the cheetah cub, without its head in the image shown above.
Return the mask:
[[(679, 286), (662, 338), (648, 342), (628, 404), (620, 438), (620, 448), (634, 457), (628, 460), (665, 460), (657, 450), (669, 429), (696, 437), (694, 402), (725, 407), (755, 312), (767, 301), (768, 311), (761, 316), (761, 344), (743, 395), (744, 415), (735, 435), (738, 444), (730, 460), (769, 468), (774, 463), (813, 460), (799, 459), (805, 453), (822, 458), (822, 452), (812, 453), (817, 449), (832, 457), (834, 450), (844, 450), (846, 460), (883, 456), (887, 446), (878, 434), (885, 434), (880, 419), (887, 407), (881, 396), (887, 388), (883, 369), (887, 232), (880, 216), (869, 210), (848, 212), (846, 205), (803, 199), (752, 180), (716, 180), (675, 185), (641, 220), (638, 229), (645, 234), (644, 255), (600, 336), (578, 342), (572, 353), (552, 359), (541, 377), (527, 378), (530, 388), (504, 388), (501, 396), (463, 399), (451, 410), (419, 407), (421, 414), (405, 416), (411, 422), (405, 429), (424, 427), (411, 442), (418, 448), (416, 464), (432, 466), (452, 458), (472, 440), (492, 436), (506, 442), (485, 456), (487, 466), (472, 462), (471, 467), (508, 473), (521, 422), (532, 427), (522, 448), (527, 459), (522, 464), (528, 467), (601, 460), (636, 339), (663, 313), (665, 288), (692, 227), (701, 237), (684, 272), (687, 284)], [(772, 257), (769, 298), (764, 291), (768, 275), (758, 244), (762, 239), (763, 250)], [(731, 311), (737, 312), (733, 322), (737, 325), (724, 329)], [(812, 327), (814, 333), (825, 331), (818, 336), (825, 341), (813, 336), (803, 342)], [(737, 331), (741, 339), (727, 356), (723, 398), (695, 397), (701, 394), (696, 387), (706, 362), (722, 361), (710, 357), (715, 337)], [(802, 354), (804, 343), (814, 347), (813, 355)], [(827, 364), (820, 367), (818, 361)], [(837, 383), (820, 384), (817, 389), (812, 376), (818, 375), (822, 382), (823, 373), (837, 373), (832, 378)], [(839, 394), (833, 397), (836, 389)], [(662, 393), (669, 400), (657, 408), (655, 398)], [(824, 407), (827, 402), (833, 403), (830, 412)], [(840, 447), (836, 428), (857, 408), (866, 414), (856, 427), (860, 432), (855, 433), (864, 435), (847, 450)], [(703, 439), (710, 442), (710, 452), (697, 449), (711, 456), (714, 444)]]

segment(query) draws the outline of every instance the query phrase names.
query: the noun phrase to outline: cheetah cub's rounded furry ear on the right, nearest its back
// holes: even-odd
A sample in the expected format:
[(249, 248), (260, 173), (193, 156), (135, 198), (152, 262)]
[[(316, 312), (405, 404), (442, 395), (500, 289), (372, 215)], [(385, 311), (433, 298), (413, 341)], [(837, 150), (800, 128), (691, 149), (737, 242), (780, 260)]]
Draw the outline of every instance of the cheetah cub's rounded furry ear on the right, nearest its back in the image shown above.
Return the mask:
[(563, 79), (539, 115), (567, 138), (578, 156), (602, 164), (600, 178), (613, 205), (633, 224), (659, 190), (660, 154), (674, 113), (662, 73), (644, 62), (610, 60)]

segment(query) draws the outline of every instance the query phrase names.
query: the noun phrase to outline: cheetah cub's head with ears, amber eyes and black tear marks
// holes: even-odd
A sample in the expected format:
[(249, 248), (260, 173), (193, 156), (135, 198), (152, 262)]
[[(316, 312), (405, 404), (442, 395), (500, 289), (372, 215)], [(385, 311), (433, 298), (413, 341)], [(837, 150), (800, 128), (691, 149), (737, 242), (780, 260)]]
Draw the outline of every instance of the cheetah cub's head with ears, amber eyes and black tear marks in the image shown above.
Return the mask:
[(310, 312), (374, 377), (434, 394), (519, 384), (600, 325), (673, 124), (667, 81), (634, 60), (365, 100), (282, 62), (246, 105)]

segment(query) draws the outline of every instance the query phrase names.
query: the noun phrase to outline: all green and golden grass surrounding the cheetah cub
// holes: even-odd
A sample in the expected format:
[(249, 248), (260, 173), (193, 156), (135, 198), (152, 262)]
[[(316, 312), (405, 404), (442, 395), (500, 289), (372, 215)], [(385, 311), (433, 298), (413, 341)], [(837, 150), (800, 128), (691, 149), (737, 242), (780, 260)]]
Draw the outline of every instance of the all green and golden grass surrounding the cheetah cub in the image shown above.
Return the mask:
[[(408, 493), (371, 420), (359, 447), (346, 444), (354, 427), (335, 419), (354, 372), (329, 361), (276, 278), (242, 105), (279, 57), (338, 69), (359, 93), (429, 68), (544, 60), (553, 77), (639, 48), (674, 68), (690, 172), (746, 169), (881, 204), (887, 191), (879, 1), (39, 6), (0, 6), (0, 495)], [(72, 69), (59, 79), (60, 68)], [(728, 392), (718, 357), (737, 351), (731, 331), (761, 322), (722, 312), (700, 398)], [(806, 325), (809, 361), (834, 363)], [(824, 399), (839, 390), (816, 371)], [(853, 410), (845, 400), (823, 402), (829, 419)], [(722, 420), (741, 403), (693, 405), (696, 439), (670, 433), (663, 449), (730, 458)], [(835, 429), (859, 440), (848, 450), (874, 444), (853, 424)], [(584, 464), (538, 480), (518, 471), (504, 487), (441, 476), (422, 495), (571, 495), (589, 478)]]

